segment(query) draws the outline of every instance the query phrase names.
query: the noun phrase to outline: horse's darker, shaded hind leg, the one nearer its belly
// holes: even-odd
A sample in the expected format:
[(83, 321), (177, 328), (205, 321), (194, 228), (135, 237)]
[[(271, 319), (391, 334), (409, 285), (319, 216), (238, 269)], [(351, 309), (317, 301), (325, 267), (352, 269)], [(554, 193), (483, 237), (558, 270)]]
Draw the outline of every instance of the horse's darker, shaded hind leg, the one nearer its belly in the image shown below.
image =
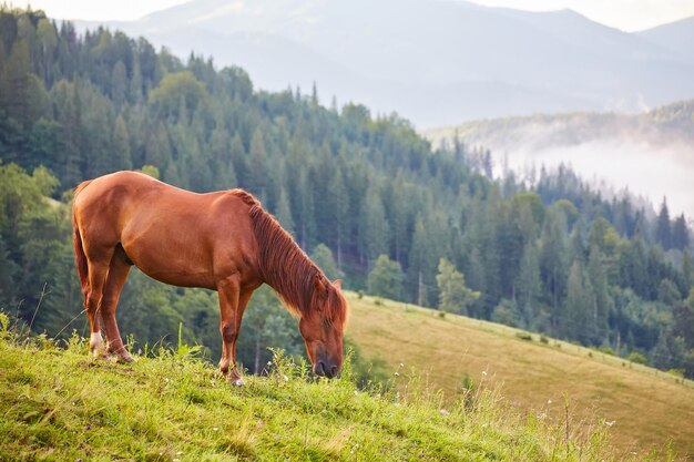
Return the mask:
[(104, 330), (106, 331), (108, 352), (118, 356), (119, 361), (132, 362), (134, 359), (123, 345), (121, 339), (121, 332), (119, 331), (118, 322), (115, 321), (115, 309), (118, 307), (121, 291), (127, 274), (130, 273), (131, 264), (123, 251), (123, 248), (119, 245), (111, 258), (111, 265), (109, 266), (109, 276), (106, 277), (106, 284), (103, 289), (103, 299), (101, 301), (101, 318), (103, 320)]

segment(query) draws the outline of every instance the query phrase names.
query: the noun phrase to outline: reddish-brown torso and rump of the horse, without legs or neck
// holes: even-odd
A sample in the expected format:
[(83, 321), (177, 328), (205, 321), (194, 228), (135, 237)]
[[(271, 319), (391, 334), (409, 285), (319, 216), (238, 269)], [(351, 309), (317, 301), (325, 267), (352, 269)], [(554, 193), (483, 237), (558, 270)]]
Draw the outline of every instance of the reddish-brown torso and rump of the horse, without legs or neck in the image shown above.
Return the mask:
[(220, 265), (254, 260), (252, 204), (244, 198), (231, 191), (192, 193), (118, 172), (83, 188), (74, 211), (91, 247), (120, 244), (130, 261), (159, 280), (211, 287), (211, 270), (226, 273)]

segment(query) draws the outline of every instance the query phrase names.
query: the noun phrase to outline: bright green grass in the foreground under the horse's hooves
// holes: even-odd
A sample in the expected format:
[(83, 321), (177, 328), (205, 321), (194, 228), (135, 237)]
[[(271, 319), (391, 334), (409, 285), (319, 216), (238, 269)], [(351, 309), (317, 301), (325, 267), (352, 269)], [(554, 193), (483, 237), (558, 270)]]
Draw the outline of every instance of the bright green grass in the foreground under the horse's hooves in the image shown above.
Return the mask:
[(0, 330), (0, 460), (614, 460), (602, 425), (516, 412), (491, 391), (443, 403), (404, 374), (402, 391), (367, 393), (348, 370), (316, 381), (283, 359), (235, 388), (181, 351), (118, 365), (78, 337)]

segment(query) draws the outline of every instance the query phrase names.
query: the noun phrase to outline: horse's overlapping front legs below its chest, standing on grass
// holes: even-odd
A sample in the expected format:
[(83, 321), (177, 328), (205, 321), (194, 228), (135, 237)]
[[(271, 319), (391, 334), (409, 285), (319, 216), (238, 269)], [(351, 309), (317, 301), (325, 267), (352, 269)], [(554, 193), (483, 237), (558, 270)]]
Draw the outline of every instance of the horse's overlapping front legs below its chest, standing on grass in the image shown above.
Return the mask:
[(241, 320), (253, 290), (241, 290), (238, 280), (231, 278), (223, 280), (217, 286), (217, 291), (220, 292), (220, 331), (222, 332), (220, 371), (232, 383), (243, 386), (244, 380), (236, 367), (236, 340), (241, 330)]

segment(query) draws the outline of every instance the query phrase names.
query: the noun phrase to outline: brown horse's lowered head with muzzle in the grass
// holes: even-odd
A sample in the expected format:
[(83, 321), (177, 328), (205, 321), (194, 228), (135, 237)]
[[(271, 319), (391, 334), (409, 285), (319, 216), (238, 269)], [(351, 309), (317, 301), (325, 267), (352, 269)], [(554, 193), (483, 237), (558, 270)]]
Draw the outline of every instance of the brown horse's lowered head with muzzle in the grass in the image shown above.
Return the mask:
[(310, 298), (310, 310), (302, 316), (299, 331), (314, 373), (329, 379), (343, 368), (343, 329), (347, 301), (340, 281), (330, 284), (317, 275)]

